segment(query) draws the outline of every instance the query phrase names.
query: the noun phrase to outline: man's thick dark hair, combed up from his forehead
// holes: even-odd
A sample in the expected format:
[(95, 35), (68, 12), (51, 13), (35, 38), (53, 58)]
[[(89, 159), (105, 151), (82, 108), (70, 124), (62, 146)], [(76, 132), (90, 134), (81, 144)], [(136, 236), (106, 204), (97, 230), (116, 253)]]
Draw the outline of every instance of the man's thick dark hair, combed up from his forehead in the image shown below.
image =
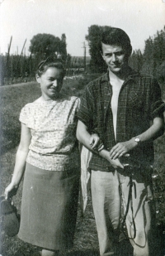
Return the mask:
[[(101, 43), (111, 46), (121, 46), (125, 51), (125, 55), (129, 58), (132, 52), (130, 37), (118, 27), (110, 27), (101, 34)], [(100, 44), (102, 52), (102, 46)]]

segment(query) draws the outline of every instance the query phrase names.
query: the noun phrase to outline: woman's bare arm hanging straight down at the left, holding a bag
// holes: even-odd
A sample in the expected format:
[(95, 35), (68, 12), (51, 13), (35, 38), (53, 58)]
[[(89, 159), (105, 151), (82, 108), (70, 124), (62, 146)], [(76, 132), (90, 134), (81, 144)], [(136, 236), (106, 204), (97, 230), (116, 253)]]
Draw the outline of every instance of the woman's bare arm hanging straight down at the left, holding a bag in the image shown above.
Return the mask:
[(12, 195), (12, 192), (16, 191), (20, 182), (21, 177), (25, 171), (26, 167), (26, 157), (29, 152), (29, 145), (31, 142), (31, 130), (27, 128), (24, 123), (21, 123), (21, 140), (19, 147), (16, 152), (16, 162), (12, 175), (12, 181), (5, 189), (6, 199)]

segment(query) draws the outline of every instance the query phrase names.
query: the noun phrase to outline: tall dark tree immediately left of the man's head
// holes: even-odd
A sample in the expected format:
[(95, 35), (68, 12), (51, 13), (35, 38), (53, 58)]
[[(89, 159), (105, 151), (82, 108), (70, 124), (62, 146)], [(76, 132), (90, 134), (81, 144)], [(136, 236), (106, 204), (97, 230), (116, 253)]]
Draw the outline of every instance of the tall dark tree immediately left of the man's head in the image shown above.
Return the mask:
[(89, 44), (89, 53), (91, 56), (90, 68), (93, 72), (103, 72), (106, 70), (106, 64), (101, 56), (100, 40), (101, 33), (108, 30), (108, 26), (92, 25), (88, 27), (88, 35), (86, 40)]

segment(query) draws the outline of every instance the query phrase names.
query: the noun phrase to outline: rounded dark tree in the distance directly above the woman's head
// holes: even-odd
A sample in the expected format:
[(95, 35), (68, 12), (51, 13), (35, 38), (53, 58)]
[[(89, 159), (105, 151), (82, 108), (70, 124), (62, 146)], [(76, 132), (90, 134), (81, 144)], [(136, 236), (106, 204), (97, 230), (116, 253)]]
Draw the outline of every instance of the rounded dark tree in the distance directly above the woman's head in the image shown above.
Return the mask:
[(29, 51), (31, 51), (31, 53), (35, 55), (37, 59), (45, 59), (48, 56), (57, 56), (59, 54), (63, 55), (63, 53), (66, 51), (66, 44), (64, 45), (64, 36), (63, 41), (61, 41), (57, 36), (45, 33), (37, 34), (31, 39)]

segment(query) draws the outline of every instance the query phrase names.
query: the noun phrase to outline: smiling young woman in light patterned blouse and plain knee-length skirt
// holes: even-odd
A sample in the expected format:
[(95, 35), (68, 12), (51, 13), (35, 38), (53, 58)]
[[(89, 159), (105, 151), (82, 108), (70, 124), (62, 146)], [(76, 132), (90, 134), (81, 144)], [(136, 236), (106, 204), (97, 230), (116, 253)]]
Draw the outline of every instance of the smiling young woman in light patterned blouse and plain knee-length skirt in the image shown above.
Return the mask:
[(6, 198), (24, 174), (18, 237), (54, 256), (73, 246), (79, 185), (76, 139), (79, 99), (60, 94), (65, 75), (61, 60), (40, 62), (36, 80), (41, 96), (21, 109), (21, 142)]

